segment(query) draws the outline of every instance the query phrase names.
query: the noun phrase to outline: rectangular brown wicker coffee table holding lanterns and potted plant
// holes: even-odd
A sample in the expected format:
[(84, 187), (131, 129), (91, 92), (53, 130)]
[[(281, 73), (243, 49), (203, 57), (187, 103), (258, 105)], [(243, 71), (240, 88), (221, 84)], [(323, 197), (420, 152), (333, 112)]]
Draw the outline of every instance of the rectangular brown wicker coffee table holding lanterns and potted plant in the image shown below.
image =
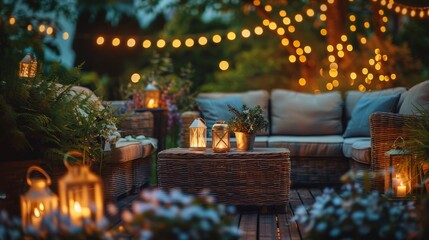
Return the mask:
[(285, 205), (290, 192), (289, 150), (213, 153), (211, 149), (167, 149), (158, 153), (158, 186), (192, 194), (209, 189), (224, 204)]

